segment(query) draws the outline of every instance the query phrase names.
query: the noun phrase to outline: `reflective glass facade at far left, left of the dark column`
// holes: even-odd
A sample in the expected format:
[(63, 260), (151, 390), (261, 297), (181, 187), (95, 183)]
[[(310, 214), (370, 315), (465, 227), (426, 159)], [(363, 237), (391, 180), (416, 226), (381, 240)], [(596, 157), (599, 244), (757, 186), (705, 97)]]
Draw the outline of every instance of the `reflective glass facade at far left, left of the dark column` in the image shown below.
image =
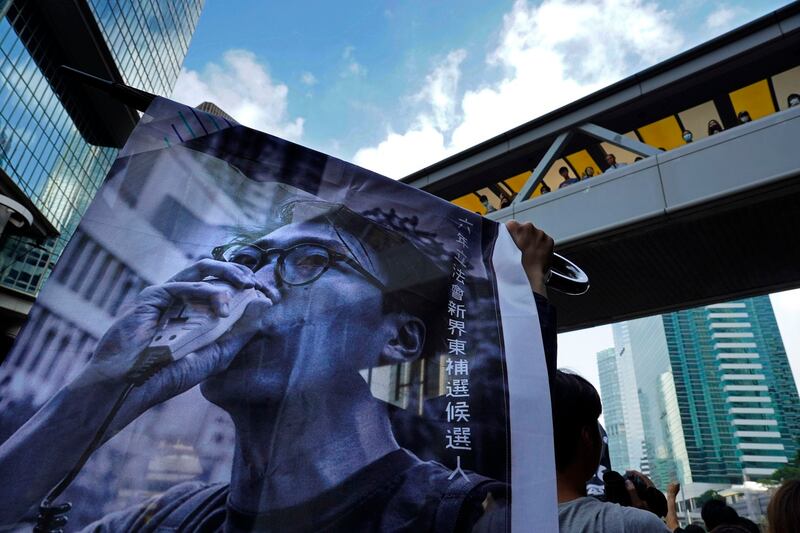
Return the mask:
[(115, 155), (83, 140), (11, 21), (0, 20), (0, 168), (61, 233), (42, 244), (7, 238), (0, 284), (38, 291)]

